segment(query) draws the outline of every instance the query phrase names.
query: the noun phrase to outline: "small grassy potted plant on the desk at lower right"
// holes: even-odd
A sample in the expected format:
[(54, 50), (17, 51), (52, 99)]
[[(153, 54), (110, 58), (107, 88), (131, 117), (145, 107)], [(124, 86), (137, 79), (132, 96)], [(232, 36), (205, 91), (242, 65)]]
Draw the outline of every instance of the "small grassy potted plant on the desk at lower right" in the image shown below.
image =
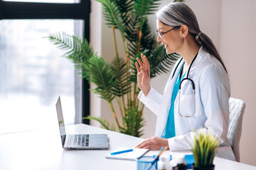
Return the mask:
[(213, 159), (218, 150), (219, 140), (217, 137), (213, 138), (210, 133), (204, 134), (200, 132), (198, 137), (194, 138), (194, 145), (192, 147), (193, 158), (195, 163), (192, 165), (194, 170), (213, 170)]

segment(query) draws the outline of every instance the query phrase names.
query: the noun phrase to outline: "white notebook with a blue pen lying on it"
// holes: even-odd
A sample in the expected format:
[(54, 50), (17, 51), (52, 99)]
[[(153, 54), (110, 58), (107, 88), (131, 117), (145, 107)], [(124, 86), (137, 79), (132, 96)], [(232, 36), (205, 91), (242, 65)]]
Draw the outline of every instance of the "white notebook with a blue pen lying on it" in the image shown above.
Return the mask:
[[(125, 152), (122, 154), (114, 154), (111, 155), (112, 152), (119, 152), (127, 149), (133, 149), (132, 152)], [(146, 152), (149, 152), (149, 149), (139, 149), (139, 148), (131, 148), (131, 147), (117, 147), (110, 154), (107, 154), (105, 158), (107, 159), (121, 159), (127, 161), (136, 161), (139, 157), (142, 157)]]

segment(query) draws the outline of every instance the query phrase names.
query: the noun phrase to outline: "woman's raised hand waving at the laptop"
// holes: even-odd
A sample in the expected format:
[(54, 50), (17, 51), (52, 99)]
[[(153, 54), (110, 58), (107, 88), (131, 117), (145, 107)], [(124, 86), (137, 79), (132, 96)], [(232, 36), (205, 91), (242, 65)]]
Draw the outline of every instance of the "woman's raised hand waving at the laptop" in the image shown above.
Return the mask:
[(146, 59), (146, 56), (143, 54), (141, 56), (142, 56), (142, 61), (139, 60), (139, 58), (137, 57), (137, 62), (135, 62), (137, 73), (138, 73), (137, 82), (138, 82), (139, 89), (142, 90), (144, 96), (147, 96), (150, 90), (150, 67), (149, 67), (149, 61)]

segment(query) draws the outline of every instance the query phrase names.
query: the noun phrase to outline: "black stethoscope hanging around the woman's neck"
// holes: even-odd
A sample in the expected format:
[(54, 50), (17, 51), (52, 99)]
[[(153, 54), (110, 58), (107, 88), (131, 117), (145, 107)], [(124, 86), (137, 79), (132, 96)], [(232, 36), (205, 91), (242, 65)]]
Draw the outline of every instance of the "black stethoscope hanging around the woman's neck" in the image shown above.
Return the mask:
[[(181, 117), (183, 117), (183, 118), (190, 118), (190, 117), (192, 117), (192, 116), (195, 114), (195, 84), (194, 84), (194, 82), (193, 82), (192, 79), (188, 78), (188, 76), (189, 76), (189, 72), (190, 72), (191, 66), (192, 66), (193, 62), (196, 60), (197, 55), (198, 55), (198, 53), (197, 53), (196, 56), (193, 58), (193, 60), (192, 60), (192, 62), (191, 62), (191, 64), (190, 64), (190, 66), (188, 67), (188, 72), (187, 72), (186, 78), (184, 78), (184, 79), (181, 80), (181, 84), (182, 84), (183, 82), (189, 83), (189, 84), (191, 84), (192, 89), (193, 89), (193, 114), (192, 114), (192, 115), (188, 115), (187, 113), (185, 113), (185, 114), (180, 113), (180, 111), (181, 111), (181, 109), (180, 109), (180, 103), (181, 103), (181, 102), (180, 102), (180, 101), (181, 101), (181, 84), (180, 84), (179, 87), (178, 87), (178, 114), (181, 115)], [(175, 74), (176, 69), (178, 68), (178, 66), (179, 66), (179, 64), (181, 63), (182, 60), (183, 60), (183, 59), (181, 59), (181, 60), (178, 62), (176, 68), (174, 69), (174, 74)], [(174, 74), (172, 75), (171, 79), (174, 77)], [(188, 82), (188, 81), (189, 81), (189, 82)]]

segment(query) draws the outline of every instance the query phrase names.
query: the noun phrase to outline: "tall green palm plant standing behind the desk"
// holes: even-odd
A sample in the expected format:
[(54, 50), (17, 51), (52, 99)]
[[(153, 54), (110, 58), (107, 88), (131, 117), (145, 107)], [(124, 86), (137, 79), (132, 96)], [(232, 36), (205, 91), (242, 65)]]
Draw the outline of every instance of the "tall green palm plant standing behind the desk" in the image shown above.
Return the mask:
[[(150, 63), (152, 78), (156, 74), (169, 72), (171, 65), (180, 56), (175, 53), (166, 55), (164, 45), (159, 45), (156, 36), (151, 34), (147, 15), (156, 11), (159, 0), (96, 1), (102, 4), (103, 16), (107, 26), (112, 29), (115, 57), (110, 64), (93, 51), (87, 40), (65, 33), (53, 33), (48, 38), (61, 49), (67, 50), (64, 56), (73, 61), (83, 78), (96, 84), (96, 88), (90, 90), (109, 103), (118, 131), (140, 137), (143, 135), (144, 105), (137, 100), (139, 88), (134, 62), (144, 53)], [(116, 30), (122, 37), (122, 55), (117, 50)], [(114, 100), (118, 103), (122, 120), (117, 118)], [(107, 130), (115, 130), (115, 125), (110, 125), (108, 120), (92, 116), (87, 116), (87, 119), (97, 120)]]

